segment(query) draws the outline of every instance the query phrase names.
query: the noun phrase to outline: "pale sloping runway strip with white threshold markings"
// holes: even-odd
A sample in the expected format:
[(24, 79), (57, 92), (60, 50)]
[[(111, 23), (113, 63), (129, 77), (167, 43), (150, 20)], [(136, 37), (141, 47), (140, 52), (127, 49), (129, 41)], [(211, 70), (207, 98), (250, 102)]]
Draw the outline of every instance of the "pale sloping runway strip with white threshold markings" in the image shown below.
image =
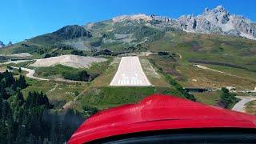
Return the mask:
[(122, 57), (110, 86), (151, 86), (138, 57)]

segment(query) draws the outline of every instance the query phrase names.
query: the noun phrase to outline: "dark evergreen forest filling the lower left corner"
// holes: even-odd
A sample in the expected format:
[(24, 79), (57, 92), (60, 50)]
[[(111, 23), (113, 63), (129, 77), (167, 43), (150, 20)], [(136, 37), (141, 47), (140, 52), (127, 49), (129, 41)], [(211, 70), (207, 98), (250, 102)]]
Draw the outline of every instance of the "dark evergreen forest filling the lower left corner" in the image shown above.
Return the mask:
[(22, 94), (28, 86), (24, 76), (14, 78), (0, 73), (1, 143), (63, 143), (84, 120), (74, 110), (54, 112), (46, 94), (33, 91)]

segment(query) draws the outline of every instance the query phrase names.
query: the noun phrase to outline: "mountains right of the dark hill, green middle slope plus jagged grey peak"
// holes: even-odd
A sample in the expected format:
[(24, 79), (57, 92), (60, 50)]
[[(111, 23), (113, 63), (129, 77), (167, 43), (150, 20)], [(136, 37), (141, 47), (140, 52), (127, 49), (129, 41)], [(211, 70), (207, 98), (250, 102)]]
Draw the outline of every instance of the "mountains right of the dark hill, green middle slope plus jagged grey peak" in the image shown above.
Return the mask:
[(168, 18), (157, 15), (121, 15), (85, 26), (95, 40), (92, 47), (138, 46), (162, 38), (167, 31), (185, 31), (199, 34), (220, 34), (256, 40), (256, 24), (240, 15), (230, 14), (223, 6), (206, 9), (198, 16), (182, 15)]

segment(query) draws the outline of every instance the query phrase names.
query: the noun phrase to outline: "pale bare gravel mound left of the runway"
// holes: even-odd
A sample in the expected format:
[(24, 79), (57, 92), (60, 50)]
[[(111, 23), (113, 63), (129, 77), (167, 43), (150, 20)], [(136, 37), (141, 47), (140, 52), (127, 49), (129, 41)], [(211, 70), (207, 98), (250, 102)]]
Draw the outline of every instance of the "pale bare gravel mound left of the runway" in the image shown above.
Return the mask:
[(84, 57), (69, 54), (58, 57), (37, 59), (36, 62), (30, 64), (30, 66), (47, 67), (60, 64), (63, 66), (70, 66), (74, 68), (86, 68), (90, 67), (91, 64), (93, 64), (94, 62), (105, 62), (106, 60), (106, 58)]

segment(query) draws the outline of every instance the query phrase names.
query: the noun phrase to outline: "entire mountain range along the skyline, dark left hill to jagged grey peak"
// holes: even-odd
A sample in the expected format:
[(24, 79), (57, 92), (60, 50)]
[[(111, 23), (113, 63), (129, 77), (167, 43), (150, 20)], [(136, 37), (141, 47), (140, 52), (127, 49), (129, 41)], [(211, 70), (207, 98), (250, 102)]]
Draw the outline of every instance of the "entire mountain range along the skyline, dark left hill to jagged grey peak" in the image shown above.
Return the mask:
[(38, 51), (41, 49), (38, 46), (59, 48), (63, 45), (90, 51), (146, 50), (148, 43), (158, 41), (170, 31), (175, 32), (176, 36), (179, 33), (217, 34), (256, 40), (255, 23), (240, 15), (230, 14), (223, 6), (217, 6), (212, 10), (206, 9), (197, 16), (182, 15), (177, 19), (154, 14), (132, 14), (90, 22), (84, 26), (64, 26), (53, 33), (24, 41), (29, 42), (26, 45), (33, 45), (34, 49), (22, 45), (22, 49), (16, 52), (34, 52), (35, 49)]

